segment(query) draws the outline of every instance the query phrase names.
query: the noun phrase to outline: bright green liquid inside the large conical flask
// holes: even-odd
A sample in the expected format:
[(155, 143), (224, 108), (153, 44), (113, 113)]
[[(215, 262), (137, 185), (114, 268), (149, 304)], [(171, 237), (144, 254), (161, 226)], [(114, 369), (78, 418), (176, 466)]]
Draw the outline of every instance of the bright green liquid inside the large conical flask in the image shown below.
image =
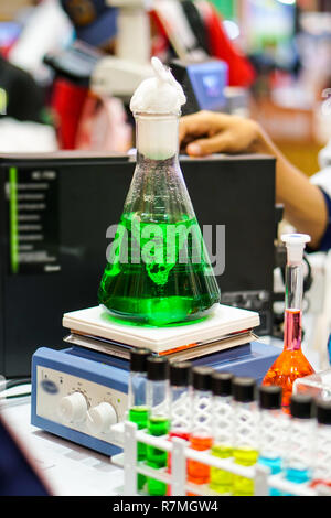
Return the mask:
[(207, 315), (220, 302), (195, 218), (166, 214), (146, 223), (141, 214), (124, 213), (111, 253), (98, 300), (115, 316), (175, 325)]

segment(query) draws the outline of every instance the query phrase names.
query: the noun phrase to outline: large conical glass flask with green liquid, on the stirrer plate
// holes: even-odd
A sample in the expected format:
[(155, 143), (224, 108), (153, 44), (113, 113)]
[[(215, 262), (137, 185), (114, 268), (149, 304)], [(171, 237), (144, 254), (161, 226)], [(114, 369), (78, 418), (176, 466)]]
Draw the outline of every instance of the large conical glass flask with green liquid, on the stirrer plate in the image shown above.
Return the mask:
[(98, 300), (131, 323), (197, 320), (220, 289), (179, 164), (179, 115), (135, 118), (137, 163)]

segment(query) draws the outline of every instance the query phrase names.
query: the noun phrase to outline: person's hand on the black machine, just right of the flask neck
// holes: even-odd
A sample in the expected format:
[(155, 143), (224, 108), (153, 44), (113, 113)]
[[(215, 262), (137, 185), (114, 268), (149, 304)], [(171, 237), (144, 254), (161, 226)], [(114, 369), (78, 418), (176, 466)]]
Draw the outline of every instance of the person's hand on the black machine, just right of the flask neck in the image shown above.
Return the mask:
[(256, 121), (213, 111), (182, 117), (179, 139), (181, 149), (191, 157), (269, 152), (270, 147)]

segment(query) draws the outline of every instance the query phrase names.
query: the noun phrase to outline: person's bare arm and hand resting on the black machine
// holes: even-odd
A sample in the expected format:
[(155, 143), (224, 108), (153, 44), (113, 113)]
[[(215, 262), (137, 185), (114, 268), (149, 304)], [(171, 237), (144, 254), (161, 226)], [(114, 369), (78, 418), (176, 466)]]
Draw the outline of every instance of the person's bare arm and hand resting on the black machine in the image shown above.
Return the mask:
[(252, 119), (200, 111), (182, 117), (180, 143), (191, 157), (212, 153), (263, 153), (276, 158), (276, 202), (282, 203), (286, 219), (311, 236), (318, 248), (328, 224), (323, 193), (292, 165), (263, 128)]

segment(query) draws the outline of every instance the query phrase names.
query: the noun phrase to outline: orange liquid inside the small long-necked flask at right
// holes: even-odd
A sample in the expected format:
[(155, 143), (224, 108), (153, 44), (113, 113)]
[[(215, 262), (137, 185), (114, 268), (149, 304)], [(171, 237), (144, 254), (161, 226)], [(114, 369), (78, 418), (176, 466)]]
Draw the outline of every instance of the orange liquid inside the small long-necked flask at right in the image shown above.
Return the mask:
[(282, 388), (282, 410), (289, 413), (295, 380), (311, 374), (314, 374), (314, 370), (301, 350), (301, 311), (286, 310), (284, 350), (269, 368), (263, 385), (277, 385)]

